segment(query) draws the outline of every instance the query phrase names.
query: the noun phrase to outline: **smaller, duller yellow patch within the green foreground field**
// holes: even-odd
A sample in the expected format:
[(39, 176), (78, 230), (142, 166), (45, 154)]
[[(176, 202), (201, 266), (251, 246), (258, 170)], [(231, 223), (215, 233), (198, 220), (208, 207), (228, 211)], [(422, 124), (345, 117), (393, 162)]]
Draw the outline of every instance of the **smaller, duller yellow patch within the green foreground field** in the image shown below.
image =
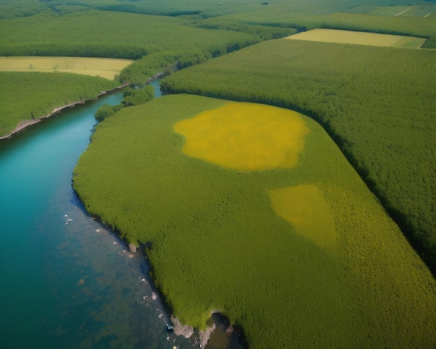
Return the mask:
[(292, 224), (299, 235), (322, 248), (337, 245), (332, 210), (316, 185), (268, 190), (276, 214)]

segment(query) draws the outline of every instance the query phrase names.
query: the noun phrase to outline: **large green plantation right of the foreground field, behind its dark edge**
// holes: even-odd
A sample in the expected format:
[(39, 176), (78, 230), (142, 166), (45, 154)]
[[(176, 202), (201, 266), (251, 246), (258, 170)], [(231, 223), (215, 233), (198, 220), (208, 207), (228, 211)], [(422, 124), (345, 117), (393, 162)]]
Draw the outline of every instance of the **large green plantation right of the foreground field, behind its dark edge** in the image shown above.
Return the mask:
[(435, 62), (430, 50), (282, 39), (178, 72), (162, 88), (315, 118), (435, 270)]

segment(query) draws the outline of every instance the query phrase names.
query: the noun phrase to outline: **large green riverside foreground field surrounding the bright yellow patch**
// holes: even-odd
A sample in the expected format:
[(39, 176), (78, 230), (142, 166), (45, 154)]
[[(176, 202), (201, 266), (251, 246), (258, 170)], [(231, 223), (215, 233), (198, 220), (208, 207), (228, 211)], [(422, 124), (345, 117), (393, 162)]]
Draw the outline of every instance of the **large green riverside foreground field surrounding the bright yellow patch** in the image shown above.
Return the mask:
[[(221, 311), (250, 348), (433, 348), (436, 281), (320, 125), (289, 116), (306, 128), (294, 167), (238, 171), (185, 154), (191, 136), (178, 123), (224, 129), (221, 113), (233, 130), (223, 111), (244, 107), (166, 95), (104, 119), (73, 177), (86, 209), (149, 242), (153, 278), (182, 323), (203, 328)], [(263, 156), (261, 127), (283, 126), (259, 124), (252, 144), (242, 135)], [(220, 149), (231, 141), (221, 134), (198, 147)]]

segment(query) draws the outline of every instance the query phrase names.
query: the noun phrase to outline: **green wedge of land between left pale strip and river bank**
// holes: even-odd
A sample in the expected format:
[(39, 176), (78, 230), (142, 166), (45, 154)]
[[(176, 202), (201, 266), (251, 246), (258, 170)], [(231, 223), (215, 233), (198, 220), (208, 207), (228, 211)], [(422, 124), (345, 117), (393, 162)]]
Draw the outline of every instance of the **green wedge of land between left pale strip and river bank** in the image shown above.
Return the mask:
[(119, 82), (70, 73), (0, 72), (0, 136), (56, 107), (93, 100)]

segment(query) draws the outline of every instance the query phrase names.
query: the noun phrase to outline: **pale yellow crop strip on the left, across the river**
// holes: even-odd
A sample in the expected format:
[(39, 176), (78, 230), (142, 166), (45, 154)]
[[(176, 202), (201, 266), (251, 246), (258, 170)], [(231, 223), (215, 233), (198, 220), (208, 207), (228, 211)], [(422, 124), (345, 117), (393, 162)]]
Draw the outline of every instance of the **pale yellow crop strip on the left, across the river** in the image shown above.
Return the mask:
[(123, 68), (132, 63), (129, 59), (102, 59), (92, 57), (0, 57), (3, 72), (72, 72), (100, 76), (113, 80)]

